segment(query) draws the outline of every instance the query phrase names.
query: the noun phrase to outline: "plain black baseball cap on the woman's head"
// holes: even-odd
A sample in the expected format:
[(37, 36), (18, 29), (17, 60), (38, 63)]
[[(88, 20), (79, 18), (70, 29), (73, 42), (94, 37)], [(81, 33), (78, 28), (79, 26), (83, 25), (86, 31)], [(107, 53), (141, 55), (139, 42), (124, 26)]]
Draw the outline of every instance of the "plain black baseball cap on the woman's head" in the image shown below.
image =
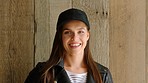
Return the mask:
[(61, 26), (63, 26), (65, 23), (71, 20), (82, 21), (86, 24), (88, 29), (90, 29), (90, 25), (89, 25), (89, 21), (86, 13), (80, 9), (75, 9), (75, 8), (65, 10), (59, 15), (56, 29), (59, 30)]

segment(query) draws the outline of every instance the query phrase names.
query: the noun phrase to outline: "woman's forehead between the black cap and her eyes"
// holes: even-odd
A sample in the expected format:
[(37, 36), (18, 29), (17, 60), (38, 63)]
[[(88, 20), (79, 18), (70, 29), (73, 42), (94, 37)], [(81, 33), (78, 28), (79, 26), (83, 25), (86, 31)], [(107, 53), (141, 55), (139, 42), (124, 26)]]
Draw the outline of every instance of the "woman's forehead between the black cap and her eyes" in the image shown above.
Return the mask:
[(87, 26), (82, 21), (72, 20), (64, 24), (63, 29), (87, 29)]

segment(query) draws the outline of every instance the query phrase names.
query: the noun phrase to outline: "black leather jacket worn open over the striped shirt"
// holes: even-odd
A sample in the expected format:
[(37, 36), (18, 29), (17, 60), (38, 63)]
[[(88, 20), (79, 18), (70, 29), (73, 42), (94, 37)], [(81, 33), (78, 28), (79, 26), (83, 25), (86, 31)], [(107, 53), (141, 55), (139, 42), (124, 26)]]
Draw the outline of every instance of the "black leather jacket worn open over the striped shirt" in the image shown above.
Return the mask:
[[(38, 79), (41, 76), (41, 73), (39, 71), (43, 68), (44, 65), (45, 65), (45, 62), (38, 63), (37, 66), (29, 73), (29, 76), (25, 80), (25, 83), (37, 83)], [(97, 65), (100, 70), (103, 83), (113, 83), (112, 76), (108, 68), (102, 66), (99, 63), (97, 63)], [(63, 61), (61, 61), (58, 65), (54, 67), (56, 81), (57, 83), (71, 83), (63, 66), (64, 66)], [(95, 83), (90, 72), (88, 72), (87, 74), (86, 83)]]

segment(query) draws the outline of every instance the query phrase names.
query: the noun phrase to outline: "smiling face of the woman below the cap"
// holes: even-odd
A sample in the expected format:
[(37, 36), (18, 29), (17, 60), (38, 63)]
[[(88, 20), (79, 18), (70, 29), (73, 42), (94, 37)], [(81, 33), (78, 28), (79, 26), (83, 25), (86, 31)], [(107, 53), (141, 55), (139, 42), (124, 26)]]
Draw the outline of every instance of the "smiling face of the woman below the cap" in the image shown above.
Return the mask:
[(88, 39), (89, 31), (85, 23), (73, 20), (63, 26), (62, 41), (66, 53), (84, 53)]

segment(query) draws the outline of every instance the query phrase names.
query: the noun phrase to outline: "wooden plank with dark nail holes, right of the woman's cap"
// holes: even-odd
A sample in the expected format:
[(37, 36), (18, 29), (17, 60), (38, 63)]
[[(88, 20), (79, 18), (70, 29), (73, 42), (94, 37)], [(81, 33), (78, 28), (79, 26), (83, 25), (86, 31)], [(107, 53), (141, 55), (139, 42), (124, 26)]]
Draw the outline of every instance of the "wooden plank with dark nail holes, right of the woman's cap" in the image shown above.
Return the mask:
[(88, 15), (93, 58), (109, 67), (108, 0), (73, 0), (73, 7), (84, 10)]

